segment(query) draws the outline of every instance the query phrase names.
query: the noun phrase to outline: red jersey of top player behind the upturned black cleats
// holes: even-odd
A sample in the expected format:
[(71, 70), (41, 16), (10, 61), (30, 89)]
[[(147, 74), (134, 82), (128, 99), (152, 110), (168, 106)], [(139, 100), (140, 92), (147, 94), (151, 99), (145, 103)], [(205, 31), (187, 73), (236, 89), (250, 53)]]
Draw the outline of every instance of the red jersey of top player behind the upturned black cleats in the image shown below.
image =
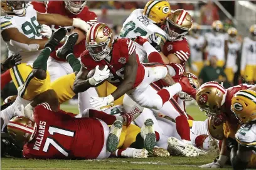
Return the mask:
[[(64, 1), (49, 1), (49, 4), (48, 4), (46, 10), (47, 10), (48, 14), (61, 14), (62, 16), (67, 16), (70, 18), (80, 18), (90, 25), (93, 25), (97, 22), (97, 15), (94, 12), (89, 11), (87, 6), (85, 6), (85, 8), (83, 8), (83, 11), (80, 12), (80, 14), (75, 15), (75, 14), (70, 13), (68, 11), (68, 9), (65, 8)], [(54, 25), (51, 26), (51, 29), (53, 29), (53, 31), (55, 31), (58, 28), (59, 28), (59, 26), (54, 26)], [(72, 32), (74, 29), (74, 27), (72, 27), (72, 26), (66, 27), (66, 28), (68, 29), (69, 33)], [(58, 49), (61, 46), (62, 45), (57, 46), (56, 49)], [(81, 42), (76, 44), (74, 47), (74, 54), (77, 58), (80, 56), (81, 53), (83, 53), (83, 51), (85, 51), (85, 39), (83, 39)], [(51, 53), (51, 57), (58, 61), (65, 61), (65, 59), (57, 58), (55, 51), (53, 53)]]

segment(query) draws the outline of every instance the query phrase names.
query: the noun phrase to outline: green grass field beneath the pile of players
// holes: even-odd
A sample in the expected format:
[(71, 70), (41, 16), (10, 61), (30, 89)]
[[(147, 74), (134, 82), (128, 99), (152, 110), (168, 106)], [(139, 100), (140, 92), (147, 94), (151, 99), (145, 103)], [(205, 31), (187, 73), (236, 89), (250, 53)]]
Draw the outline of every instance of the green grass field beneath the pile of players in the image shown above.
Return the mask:
[[(78, 113), (77, 106), (63, 105), (62, 109), (72, 113)], [(198, 121), (204, 121), (206, 116), (201, 113), (197, 106), (189, 106), (188, 114)], [(1, 169), (10, 170), (78, 170), (78, 169), (175, 169), (193, 170), (201, 169), (198, 166), (211, 163), (215, 159), (216, 153), (209, 153), (207, 156), (198, 158), (184, 158), (171, 156), (169, 158), (148, 158), (148, 159), (120, 159), (109, 158), (104, 160), (83, 160), (83, 161), (63, 161), (63, 160), (35, 160), (2, 158)], [(231, 169), (231, 168), (223, 168)]]

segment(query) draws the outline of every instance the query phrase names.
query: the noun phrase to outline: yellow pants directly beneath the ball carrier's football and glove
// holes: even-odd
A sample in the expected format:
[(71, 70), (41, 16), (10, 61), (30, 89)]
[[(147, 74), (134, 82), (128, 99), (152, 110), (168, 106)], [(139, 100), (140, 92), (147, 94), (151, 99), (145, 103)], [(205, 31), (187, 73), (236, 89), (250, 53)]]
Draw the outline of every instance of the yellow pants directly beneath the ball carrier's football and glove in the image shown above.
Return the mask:
[[(111, 83), (109, 83), (108, 81), (105, 81), (103, 84), (101, 84), (100, 86), (98, 86), (96, 88), (97, 93), (100, 98), (109, 96), (109, 94), (113, 93), (115, 91), (115, 89), (117, 89), (117, 88), (114, 85), (112, 85)], [(122, 104), (123, 99), (124, 99), (124, 96), (120, 97), (119, 99), (116, 99), (114, 101), (114, 104), (115, 105)]]

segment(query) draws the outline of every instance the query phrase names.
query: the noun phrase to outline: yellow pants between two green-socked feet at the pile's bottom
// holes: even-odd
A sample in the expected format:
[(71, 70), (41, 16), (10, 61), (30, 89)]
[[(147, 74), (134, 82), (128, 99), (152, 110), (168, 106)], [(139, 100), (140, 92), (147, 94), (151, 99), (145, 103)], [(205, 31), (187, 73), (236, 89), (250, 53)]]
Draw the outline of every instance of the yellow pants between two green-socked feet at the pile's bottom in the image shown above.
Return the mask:
[(136, 141), (137, 134), (139, 133), (141, 133), (141, 128), (135, 124), (130, 124), (128, 127), (122, 126), (122, 133), (117, 148), (129, 148)]

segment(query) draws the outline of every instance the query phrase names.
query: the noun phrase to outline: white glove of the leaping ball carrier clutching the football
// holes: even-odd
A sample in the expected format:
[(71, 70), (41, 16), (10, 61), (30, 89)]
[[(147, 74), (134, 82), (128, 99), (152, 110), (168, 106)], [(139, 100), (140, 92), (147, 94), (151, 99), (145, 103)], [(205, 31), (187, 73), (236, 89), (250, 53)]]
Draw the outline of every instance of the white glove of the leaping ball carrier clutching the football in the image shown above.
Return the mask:
[(88, 79), (88, 81), (92, 86), (95, 86), (107, 78), (109, 78), (109, 69), (107, 66), (105, 66), (103, 70), (100, 70), (99, 66), (96, 66), (95, 73), (93, 74), (92, 78)]

